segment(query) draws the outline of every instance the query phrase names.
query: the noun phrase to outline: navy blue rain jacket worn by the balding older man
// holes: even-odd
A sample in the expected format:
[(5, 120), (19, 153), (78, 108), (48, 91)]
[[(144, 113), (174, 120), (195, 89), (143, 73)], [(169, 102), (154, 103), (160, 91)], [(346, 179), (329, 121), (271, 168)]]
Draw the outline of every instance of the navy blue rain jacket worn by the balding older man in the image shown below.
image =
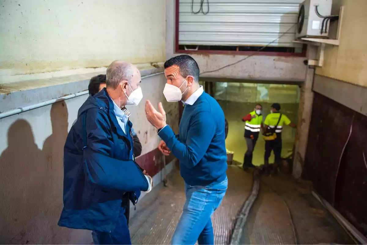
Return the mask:
[(133, 203), (148, 181), (134, 161), (128, 121), (117, 123), (106, 89), (90, 96), (78, 111), (64, 147), (64, 207), (58, 225), (94, 231), (115, 229), (125, 193)]

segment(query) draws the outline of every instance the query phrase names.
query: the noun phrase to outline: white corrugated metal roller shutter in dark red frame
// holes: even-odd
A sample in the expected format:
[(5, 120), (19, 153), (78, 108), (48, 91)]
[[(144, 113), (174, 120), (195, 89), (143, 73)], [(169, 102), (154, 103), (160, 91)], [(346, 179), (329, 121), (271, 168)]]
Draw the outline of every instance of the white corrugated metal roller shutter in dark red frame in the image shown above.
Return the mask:
[[(209, 0), (209, 12), (193, 14), (192, 0), (179, 0), (179, 45), (300, 47), (292, 43), (303, 0)], [(193, 11), (200, 9), (194, 0)], [(207, 11), (204, 1), (203, 11)]]

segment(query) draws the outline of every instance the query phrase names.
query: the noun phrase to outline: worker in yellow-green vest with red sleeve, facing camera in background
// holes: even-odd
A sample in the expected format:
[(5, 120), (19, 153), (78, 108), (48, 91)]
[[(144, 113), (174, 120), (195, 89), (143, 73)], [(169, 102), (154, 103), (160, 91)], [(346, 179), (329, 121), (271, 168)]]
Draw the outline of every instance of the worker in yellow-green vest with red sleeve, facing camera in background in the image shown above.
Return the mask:
[(247, 151), (243, 158), (243, 169), (254, 167), (252, 164), (252, 152), (254, 152), (256, 141), (259, 138), (262, 129), (262, 106), (256, 104), (254, 111), (250, 112), (242, 118), (242, 122), (246, 122), (244, 137), (246, 140)]

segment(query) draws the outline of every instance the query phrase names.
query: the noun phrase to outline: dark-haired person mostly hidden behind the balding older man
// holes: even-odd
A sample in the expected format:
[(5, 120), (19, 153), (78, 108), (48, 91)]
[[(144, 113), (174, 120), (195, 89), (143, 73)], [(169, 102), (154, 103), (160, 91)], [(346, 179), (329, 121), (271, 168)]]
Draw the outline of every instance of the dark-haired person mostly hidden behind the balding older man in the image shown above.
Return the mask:
[[(97, 76), (92, 77), (91, 80), (89, 81), (88, 92), (91, 96), (94, 96), (105, 87), (106, 87), (106, 75), (99, 74)], [(132, 127), (131, 127), (131, 133), (132, 133), (132, 140), (134, 141), (134, 156), (137, 157), (141, 155), (142, 146), (138, 138), (138, 135), (135, 133)]]

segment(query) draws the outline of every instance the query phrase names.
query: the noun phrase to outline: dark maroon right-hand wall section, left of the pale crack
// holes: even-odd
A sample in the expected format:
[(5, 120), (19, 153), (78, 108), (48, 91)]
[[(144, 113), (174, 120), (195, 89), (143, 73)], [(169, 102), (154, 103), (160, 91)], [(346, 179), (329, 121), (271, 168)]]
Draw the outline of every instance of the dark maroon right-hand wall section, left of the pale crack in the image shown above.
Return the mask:
[(349, 136), (352, 110), (315, 93), (304, 177), (330, 203), (343, 147)]

